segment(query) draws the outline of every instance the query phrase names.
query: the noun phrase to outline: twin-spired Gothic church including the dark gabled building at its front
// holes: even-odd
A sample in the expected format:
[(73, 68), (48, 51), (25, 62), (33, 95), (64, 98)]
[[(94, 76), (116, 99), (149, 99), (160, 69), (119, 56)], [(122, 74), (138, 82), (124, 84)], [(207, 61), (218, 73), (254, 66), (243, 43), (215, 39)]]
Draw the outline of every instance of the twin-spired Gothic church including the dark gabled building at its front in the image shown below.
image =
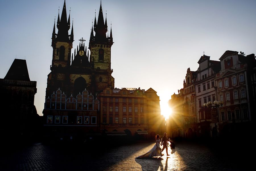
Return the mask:
[(100, 101), (97, 96), (107, 87), (114, 88), (114, 78), (111, 76), (112, 30), (110, 37), (107, 37), (107, 20), (104, 23), (101, 4), (98, 21), (95, 16), (90, 34), (90, 56), (83, 38), (74, 54), (71, 54), (74, 41), (73, 23), (69, 34), (70, 27), (70, 14), (67, 19), (64, 1), (61, 18), (58, 16), (57, 19), (57, 34), (55, 23), (53, 26), (53, 57), (43, 111), (46, 133), (57, 133), (63, 137), (74, 132), (98, 132)]

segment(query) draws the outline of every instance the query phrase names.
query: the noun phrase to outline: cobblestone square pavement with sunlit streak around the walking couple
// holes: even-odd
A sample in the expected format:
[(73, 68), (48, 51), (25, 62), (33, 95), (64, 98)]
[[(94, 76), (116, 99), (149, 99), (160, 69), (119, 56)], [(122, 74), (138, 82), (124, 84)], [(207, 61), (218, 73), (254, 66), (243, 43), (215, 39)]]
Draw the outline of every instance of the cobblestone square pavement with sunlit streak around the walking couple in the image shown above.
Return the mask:
[(71, 150), (38, 143), (1, 155), (0, 170), (246, 170), (230, 156), (223, 155), (225, 153), (220, 155), (206, 146), (192, 143), (176, 143), (175, 149), (168, 148), (168, 157), (164, 151), (162, 158), (135, 159), (153, 145), (153, 142), (144, 142), (114, 148), (102, 144), (104, 152), (89, 153), (79, 146)]

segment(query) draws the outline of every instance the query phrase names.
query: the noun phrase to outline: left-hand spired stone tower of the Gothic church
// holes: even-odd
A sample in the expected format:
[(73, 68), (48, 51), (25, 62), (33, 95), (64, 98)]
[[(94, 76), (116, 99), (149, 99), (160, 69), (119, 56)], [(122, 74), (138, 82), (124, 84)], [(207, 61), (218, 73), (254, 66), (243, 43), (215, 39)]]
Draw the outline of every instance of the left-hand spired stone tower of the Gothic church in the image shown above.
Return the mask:
[(56, 34), (54, 21), (51, 37), (51, 46), (53, 48), (52, 64), (50, 66), (51, 72), (48, 74), (47, 79), (46, 97), (59, 87), (67, 90), (70, 86), (68, 70), (70, 68), (74, 35), (73, 25), (71, 34), (69, 35), (68, 33), (70, 29), (70, 13), (67, 20), (66, 1), (64, 1), (61, 19), (58, 15), (57, 28), (58, 33)]

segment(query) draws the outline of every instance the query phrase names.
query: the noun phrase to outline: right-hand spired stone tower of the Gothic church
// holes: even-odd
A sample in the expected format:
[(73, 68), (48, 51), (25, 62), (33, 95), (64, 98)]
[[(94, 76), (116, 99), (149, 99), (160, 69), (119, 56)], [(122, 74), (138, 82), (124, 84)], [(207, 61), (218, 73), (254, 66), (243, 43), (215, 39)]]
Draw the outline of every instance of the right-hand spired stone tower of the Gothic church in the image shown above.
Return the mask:
[[(93, 33), (95, 32), (95, 36)], [(90, 63), (92, 70), (106, 70), (108, 76), (108, 87), (114, 88), (114, 78), (111, 76), (113, 70), (111, 69), (111, 46), (113, 45), (112, 29), (110, 37), (106, 36), (108, 31), (107, 17), (104, 23), (102, 5), (100, 2), (100, 11), (98, 22), (96, 21), (96, 14), (94, 19), (94, 26), (90, 34)], [(95, 87), (99, 87), (95, 85)]]

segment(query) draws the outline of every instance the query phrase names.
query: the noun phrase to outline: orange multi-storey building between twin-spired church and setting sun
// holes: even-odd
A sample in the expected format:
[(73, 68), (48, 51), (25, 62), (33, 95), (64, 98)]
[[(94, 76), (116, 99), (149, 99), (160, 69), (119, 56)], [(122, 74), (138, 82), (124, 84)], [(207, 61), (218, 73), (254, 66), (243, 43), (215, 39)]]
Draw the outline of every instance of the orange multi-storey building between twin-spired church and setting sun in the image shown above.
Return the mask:
[[(163, 134), (164, 118), (160, 115), (159, 96), (152, 88), (110, 89), (100, 93), (101, 127), (107, 135), (125, 132), (144, 138)], [(156, 122), (157, 121), (157, 122)]]

